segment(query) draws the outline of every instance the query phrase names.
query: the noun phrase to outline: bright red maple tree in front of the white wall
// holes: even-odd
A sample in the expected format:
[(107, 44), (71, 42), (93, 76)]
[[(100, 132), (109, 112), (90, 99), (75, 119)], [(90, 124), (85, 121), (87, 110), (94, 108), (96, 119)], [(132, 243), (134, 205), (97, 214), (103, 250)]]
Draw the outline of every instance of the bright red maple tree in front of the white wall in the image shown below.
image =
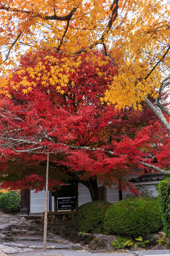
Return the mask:
[[(98, 182), (107, 186), (119, 184), (122, 189), (130, 186), (121, 178), (133, 172), (133, 167), (146, 155), (140, 149), (150, 143), (147, 134), (155, 116), (146, 106), (141, 112), (132, 107), (118, 110), (114, 105), (101, 105), (100, 97), (108, 82), (112, 82), (117, 67), (112, 62), (103, 65), (100, 77), (96, 72), (98, 67), (87, 61), (86, 55), (77, 72), (69, 73), (65, 93), (56, 91), (55, 84), (42, 87), (42, 76), (37, 76), (37, 86), (28, 94), (23, 94), (22, 88), (14, 91), (11, 88), (12, 98), (1, 98), (0, 149), (4, 154), (1, 159), (8, 158), (0, 172), (4, 188), (42, 190), (46, 168), (43, 153), (58, 151), (50, 154), (50, 189), (67, 182), (67, 175), (89, 188), (92, 200), (99, 199)], [(100, 56), (98, 52), (96, 57)], [(31, 63), (32, 58), (32, 54), (24, 55), (21, 67)], [(62, 58), (58, 58), (60, 61), (62, 65)], [(45, 61), (44, 65), (50, 79), (51, 62)], [(13, 73), (16, 74), (15, 70)], [(26, 75), (28, 81), (36, 80), (29, 72)], [(20, 80), (19, 75), (13, 77), (14, 84)], [(38, 151), (34, 153), (35, 150)], [(12, 157), (20, 162), (11, 161)]]

